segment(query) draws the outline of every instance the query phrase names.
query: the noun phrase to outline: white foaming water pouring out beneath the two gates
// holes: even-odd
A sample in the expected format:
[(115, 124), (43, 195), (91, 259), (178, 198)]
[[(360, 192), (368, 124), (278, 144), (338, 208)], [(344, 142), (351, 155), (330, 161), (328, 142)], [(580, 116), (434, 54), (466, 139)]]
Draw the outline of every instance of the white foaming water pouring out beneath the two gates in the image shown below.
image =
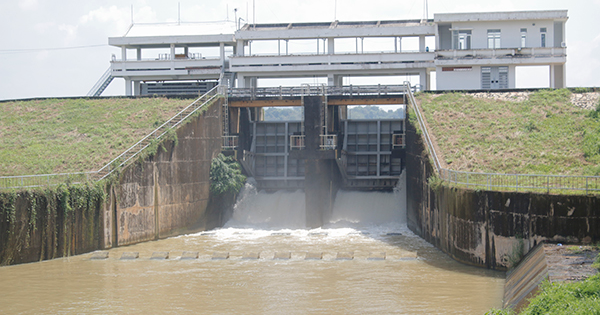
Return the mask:
[(225, 238), (256, 238), (272, 233), (305, 237), (315, 233), (332, 236), (402, 232), (406, 228), (406, 179), (404, 173), (393, 192), (338, 191), (331, 218), (323, 227), (306, 228), (302, 191), (257, 191), (249, 179), (234, 206), (232, 218), (216, 234)]

